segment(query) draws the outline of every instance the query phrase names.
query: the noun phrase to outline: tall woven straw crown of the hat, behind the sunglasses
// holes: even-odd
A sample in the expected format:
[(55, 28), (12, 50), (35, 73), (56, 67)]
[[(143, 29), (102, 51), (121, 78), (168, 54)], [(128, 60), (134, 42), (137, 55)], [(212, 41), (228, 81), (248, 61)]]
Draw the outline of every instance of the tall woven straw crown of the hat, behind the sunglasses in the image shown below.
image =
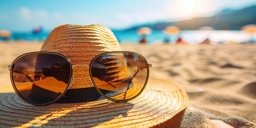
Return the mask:
[[(49, 34), (41, 51), (61, 53), (70, 59), (72, 65), (89, 66), (92, 58), (98, 54), (121, 51), (121, 47), (113, 32), (103, 25), (60, 25)], [(121, 60), (117, 58), (117, 61)], [(115, 67), (115, 63), (112, 63), (112, 66)], [(73, 72), (76, 79), (70, 89), (93, 87), (88, 70), (83, 66), (76, 67)], [(127, 69), (123, 68), (120, 72), (124, 70)], [(121, 75), (120, 72), (117, 72), (116, 77), (110, 81), (128, 77), (128, 74)]]

